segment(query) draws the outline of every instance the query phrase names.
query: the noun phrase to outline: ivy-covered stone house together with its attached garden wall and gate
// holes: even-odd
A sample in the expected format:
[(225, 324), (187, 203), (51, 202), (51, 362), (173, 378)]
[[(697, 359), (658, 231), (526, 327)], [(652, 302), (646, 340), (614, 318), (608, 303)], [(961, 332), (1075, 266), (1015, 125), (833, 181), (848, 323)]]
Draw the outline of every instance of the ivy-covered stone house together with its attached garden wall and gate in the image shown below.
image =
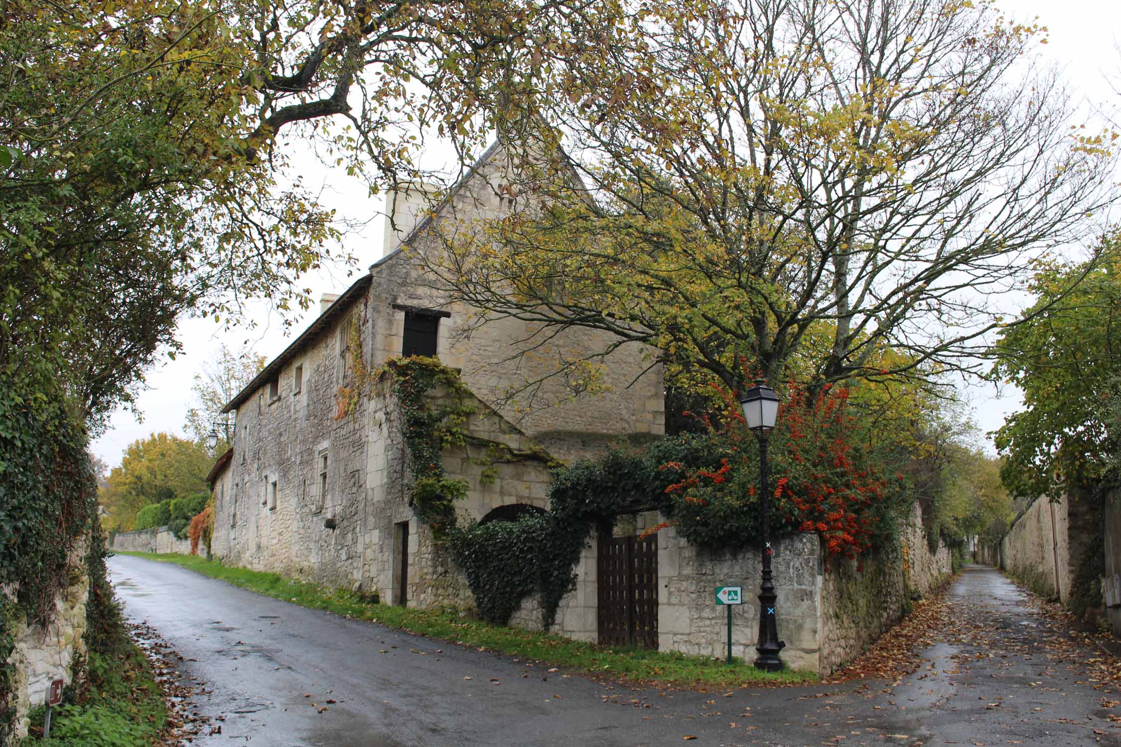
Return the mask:
[[(495, 143), (433, 207), (423, 186), (392, 197), (390, 251), (325, 296), (318, 318), (226, 407), (235, 433), (211, 474), (212, 550), (385, 604), (723, 655), (714, 588), (751, 588), (760, 572), (744, 529), (756, 483), (741, 476), (742, 491), (704, 493), (740, 485), (728, 478), (739, 458), (725, 452), (731, 441), (697, 451), (664, 437), (655, 351), (606, 332), (541, 335), (488, 318), (450, 300), (426, 269), (448, 236), (543, 208), (547, 190), (524, 164)], [(573, 364), (589, 360), (597, 364)], [(821, 430), (790, 423), (799, 438)], [(895, 539), (865, 531), (880, 525), (868, 514), (879, 483), (844, 454), (828, 459), (806, 485), (794, 471), (777, 480), (776, 494), (787, 529), (773, 543), (784, 660), (816, 671), (898, 619), (907, 568), (934, 569), (932, 583), (949, 570), (918, 514)], [(851, 510), (832, 507), (832, 488), (814, 492), (831, 470), (839, 486), (859, 487), (842, 491)], [(753, 660), (757, 606), (734, 616), (733, 654)]]

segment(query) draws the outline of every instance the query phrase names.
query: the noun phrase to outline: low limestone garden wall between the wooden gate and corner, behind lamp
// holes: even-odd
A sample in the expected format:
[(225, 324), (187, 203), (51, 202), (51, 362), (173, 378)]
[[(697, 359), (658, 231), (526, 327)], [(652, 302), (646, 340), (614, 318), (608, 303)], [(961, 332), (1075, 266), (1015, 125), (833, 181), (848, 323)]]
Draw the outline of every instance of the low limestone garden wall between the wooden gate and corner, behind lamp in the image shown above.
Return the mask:
[[(790, 666), (817, 671), (822, 550), (816, 534), (772, 543), (771, 568), (778, 589), (779, 639)], [(715, 604), (717, 586), (741, 586), (744, 604), (732, 609), (732, 655), (756, 657), (761, 578), (758, 549), (720, 552), (696, 548), (673, 529), (658, 536), (658, 644), (663, 651), (723, 656), (726, 609)]]

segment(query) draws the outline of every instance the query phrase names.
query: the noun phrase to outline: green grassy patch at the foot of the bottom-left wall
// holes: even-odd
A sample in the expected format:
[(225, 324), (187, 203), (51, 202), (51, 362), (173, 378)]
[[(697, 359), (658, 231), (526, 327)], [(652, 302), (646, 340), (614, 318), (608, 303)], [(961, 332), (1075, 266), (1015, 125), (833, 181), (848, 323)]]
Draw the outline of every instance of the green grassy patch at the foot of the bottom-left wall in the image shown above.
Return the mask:
[(24, 747), (139, 747), (160, 737), (167, 725), (164, 692), (136, 644), (115, 655), (91, 653), (89, 665), (89, 684), (53, 709), (49, 738), (43, 738), (43, 707), (31, 710)]

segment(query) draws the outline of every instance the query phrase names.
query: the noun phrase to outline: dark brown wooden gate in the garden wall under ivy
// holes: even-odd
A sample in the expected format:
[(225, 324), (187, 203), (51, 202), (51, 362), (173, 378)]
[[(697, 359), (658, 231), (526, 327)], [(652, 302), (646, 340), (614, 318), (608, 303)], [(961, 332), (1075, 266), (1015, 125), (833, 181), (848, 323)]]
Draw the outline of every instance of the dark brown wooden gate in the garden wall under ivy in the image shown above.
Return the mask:
[(601, 536), (601, 645), (658, 647), (658, 538)]

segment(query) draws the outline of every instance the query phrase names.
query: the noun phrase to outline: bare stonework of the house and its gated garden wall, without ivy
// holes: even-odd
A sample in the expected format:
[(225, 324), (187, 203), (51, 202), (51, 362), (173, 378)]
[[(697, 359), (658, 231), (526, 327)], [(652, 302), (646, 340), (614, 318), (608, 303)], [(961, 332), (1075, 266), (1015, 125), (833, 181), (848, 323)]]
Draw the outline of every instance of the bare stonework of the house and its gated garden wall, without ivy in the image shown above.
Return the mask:
[[(235, 435), (210, 476), (215, 555), (377, 594), (388, 604), (473, 605), (465, 578), (409, 505), (401, 403), (388, 385), (358, 381), (355, 368), (373, 371), (397, 356), (436, 356), (460, 372), (470, 391), (475, 413), (465, 428), (474, 440), (442, 455), (446, 476), (470, 486), (456, 506), (463, 519), (509, 519), (547, 508), (553, 460), (592, 455), (621, 438), (664, 433), (661, 368), (650, 365), (650, 351), (615, 349), (605, 360), (606, 390), (572, 396), (547, 374), (574, 354), (606, 349), (609, 337), (562, 334), (549, 348), (518, 356), (531, 328), (512, 319), (476, 325), (473, 309), (451, 302), (426, 281), (417, 252), (438, 251), (445, 232), (512, 209), (509, 185), (517, 176), (495, 143), (432, 215), (424, 216), (416, 195), (401, 198), (423, 218), (387, 232), (401, 245), (337, 297), (325, 296), (319, 316), (226, 405)], [(519, 402), (506, 396), (511, 385), (526, 382), (540, 382), (532, 396)], [(434, 390), (429, 396), (438, 404), (452, 394)], [(504, 456), (480, 458), (495, 448)], [(638, 511), (621, 517), (612, 536), (590, 539), (574, 569), (576, 588), (560, 603), (556, 632), (722, 656), (725, 610), (714, 605), (714, 587), (742, 585), (747, 604), (734, 610), (732, 653), (753, 659), (758, 552), (710, 552), (673, 529), (643, 535), (661, 519)], [(914, 533), (921, 538), (921, 517), (917, 521)], [(923, 569), (916, 578), (924, 587), (949, 571), (948, 553), (932, 555), (925, 541), (907, 538), (905, 550), (865, 562), (862, 573), (830, 568), (815, 534), (775, 547), (779, 634), (787, 642), (782, 656), (822, 672), (852, 659), (899, 618), (910, 582), (905, 557), (911, 569)], [(538, 599), (526, 599), (511, 624), (539, 628), (539, 609)]]

